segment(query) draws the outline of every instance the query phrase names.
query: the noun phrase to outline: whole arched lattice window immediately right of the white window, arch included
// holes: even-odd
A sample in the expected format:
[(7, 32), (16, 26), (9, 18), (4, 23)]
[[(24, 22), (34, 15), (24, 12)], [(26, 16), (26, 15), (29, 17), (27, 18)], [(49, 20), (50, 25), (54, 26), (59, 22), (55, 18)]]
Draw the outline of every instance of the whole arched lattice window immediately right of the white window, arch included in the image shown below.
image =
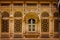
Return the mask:
[(41, 19), (41, 31), (42, 32), (49, 32), (49, 14), (47, 12), (43, 12), (41, 14), (41, 17), (44, 17)]

